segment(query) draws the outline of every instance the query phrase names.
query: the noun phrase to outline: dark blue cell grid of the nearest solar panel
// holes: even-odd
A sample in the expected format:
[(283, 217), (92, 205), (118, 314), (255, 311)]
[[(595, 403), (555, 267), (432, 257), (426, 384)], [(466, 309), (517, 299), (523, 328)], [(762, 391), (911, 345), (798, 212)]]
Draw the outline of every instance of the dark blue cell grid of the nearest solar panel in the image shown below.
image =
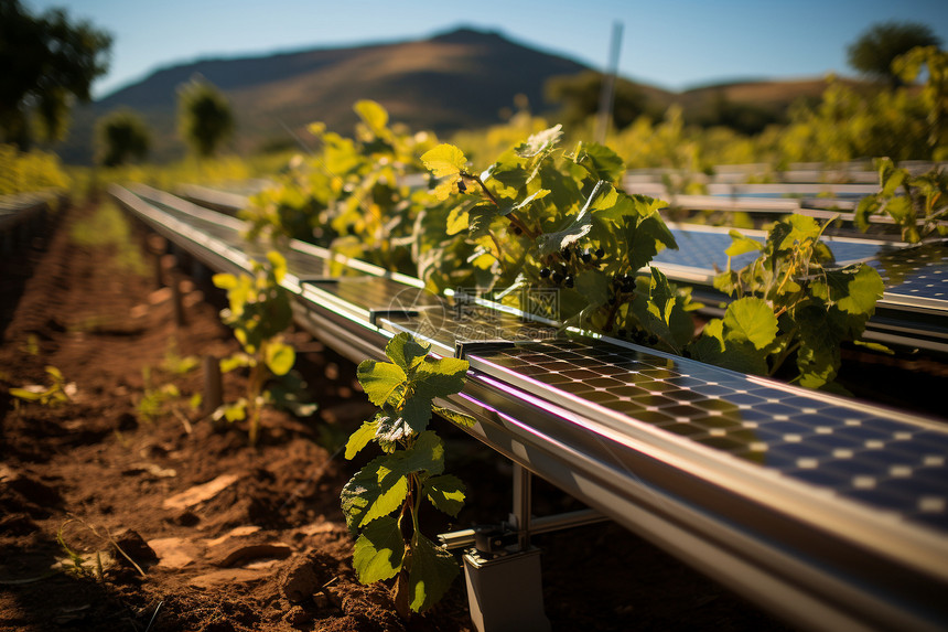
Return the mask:
[[(788, 393), (687, 360), (601, 342), (517, 344), (468, 356), (710, 449), (948, 531), (948, 428)], [(478, 371), (491, 373), (489, 367)], [(495, 377), (504, 378), (503, 371)], [(592, 410), (585, 416), (595, 418)]]

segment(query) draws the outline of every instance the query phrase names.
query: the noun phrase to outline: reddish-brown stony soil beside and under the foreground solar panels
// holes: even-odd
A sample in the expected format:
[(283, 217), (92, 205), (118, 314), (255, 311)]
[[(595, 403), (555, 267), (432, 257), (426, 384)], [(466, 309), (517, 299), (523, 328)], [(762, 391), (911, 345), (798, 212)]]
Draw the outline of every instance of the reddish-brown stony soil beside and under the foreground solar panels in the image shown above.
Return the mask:
[[(245, 428), (188, 405), (203, 390), (200, 368), (166, 366), (170, 350), (236, 349), (211, 304), (219, 297), (185, 283), (187, 322), (175, 326), (166, 289), (108, 249), (71, 242), (68, 227), (89, 212), (67, 211), (0, 261), (0, 629), (471, 630), (463, 580), (405, 622), (386, 587), (355, 579), (338, 494), (356, 465), (331, 454), (370, 410), (353, 364), (297, 334), (320, 411), (267, 411), (260, 444), (248, 447)], [(47, 365), (75, 382), (72, 400), (14, 406), (8, 389), (49, 384)], [(229, 398), (243, 379), (225, 376)], [(165, 384), (181, 396), (143, 415), (146, 388)], [(506, 517), (508, 464), (444, 433), (449, 468), (468, 483), (457, 526)], [(540, 515), (579, 508), (542, 482), (535, 497)], [(536, 544), (554, 630), (784, 629), (614, 525)], [(86, 554), (80, 568), (66, 548)]]

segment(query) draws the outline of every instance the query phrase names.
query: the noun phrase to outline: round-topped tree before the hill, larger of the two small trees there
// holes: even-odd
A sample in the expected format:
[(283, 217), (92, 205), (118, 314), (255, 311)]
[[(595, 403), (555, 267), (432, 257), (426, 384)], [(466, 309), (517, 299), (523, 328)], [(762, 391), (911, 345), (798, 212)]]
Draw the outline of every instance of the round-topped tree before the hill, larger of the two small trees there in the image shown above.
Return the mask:
[(201, 158), (214, 156), (234, 135), (234, 113), (213, 84), (196, 77), (179, 88), (177, 130)]

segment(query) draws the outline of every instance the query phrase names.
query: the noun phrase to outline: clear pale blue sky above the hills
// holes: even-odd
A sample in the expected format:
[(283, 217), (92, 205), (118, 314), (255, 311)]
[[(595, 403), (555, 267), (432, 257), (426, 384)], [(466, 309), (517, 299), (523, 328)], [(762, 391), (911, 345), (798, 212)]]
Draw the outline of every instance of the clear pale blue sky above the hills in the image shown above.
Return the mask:
[(922, 22), (948, 44), (945, 0), (21, 0), (67, 7), (115, 38), (97, 97), (202, 57), (425, 38), (459, 25), (604, 68), (622, 22), (620, 74), (680, 90), (735, 78), (852, 74), (845, 47), (887, 20)]

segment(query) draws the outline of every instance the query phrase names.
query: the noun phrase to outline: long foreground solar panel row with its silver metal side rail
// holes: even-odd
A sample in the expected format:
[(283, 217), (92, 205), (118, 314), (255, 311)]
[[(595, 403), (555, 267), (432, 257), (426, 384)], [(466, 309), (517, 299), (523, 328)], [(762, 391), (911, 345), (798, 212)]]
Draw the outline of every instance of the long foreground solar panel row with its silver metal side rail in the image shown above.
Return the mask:
[[(186, 203), (112, 194), (215, 269), (248, 265), (239, 231), (198, 237), (209, 218)], [(942, 421), (468, 310), (360, 267), (288, 285), (299, 322), (354, 361), (400, 331), (463, 354), (467, 385), (441, 404), (515, 463), (806, 629), (948, 628)]]

